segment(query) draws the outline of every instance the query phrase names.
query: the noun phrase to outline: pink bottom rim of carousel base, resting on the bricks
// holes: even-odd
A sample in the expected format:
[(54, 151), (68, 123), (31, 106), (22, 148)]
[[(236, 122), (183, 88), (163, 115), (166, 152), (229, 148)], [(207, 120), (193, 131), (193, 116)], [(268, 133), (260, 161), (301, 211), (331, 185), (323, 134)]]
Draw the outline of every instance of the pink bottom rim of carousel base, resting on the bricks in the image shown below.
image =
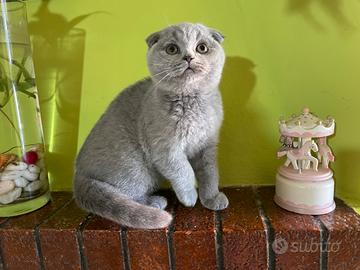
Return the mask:
[(335, 202), (332, 201), (326, 205), (306, 205), (306, 204), (297, 204), (290, 201), (285, 201), (281, 199), (279, 196), (274, 196), (274, 201), (281, 208), (284, 208), (288, 211), (295, 212), (298, 214), (304, 215), (324, 215), (334, 211), (336, 205)]

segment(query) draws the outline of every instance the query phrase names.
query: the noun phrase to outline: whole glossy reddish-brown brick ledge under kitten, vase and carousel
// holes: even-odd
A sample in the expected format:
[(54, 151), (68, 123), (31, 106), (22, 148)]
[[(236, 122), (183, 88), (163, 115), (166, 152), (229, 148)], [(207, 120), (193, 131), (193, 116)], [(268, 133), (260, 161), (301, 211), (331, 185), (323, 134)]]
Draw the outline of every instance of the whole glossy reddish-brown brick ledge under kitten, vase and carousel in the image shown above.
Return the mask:
[(165, 192), (175, 218), (162, 230), (124, 228), (54, 192), (38, 211), (0, 218), (0, 269), (360, 269), (360, 215), (341, 200), (304, 216), (276, 206), (273, 187), (223, 190), (220, 212)]

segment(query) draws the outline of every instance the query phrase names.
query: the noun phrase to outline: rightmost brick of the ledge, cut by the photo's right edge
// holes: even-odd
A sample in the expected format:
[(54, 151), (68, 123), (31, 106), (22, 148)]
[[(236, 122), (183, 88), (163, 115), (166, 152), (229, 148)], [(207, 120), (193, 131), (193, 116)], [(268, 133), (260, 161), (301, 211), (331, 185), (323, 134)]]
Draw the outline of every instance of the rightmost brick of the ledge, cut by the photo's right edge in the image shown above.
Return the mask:
[(336, 199), (335, 211), (320, 216), (327, 229), (327, 267), (360, 269), (360, 215)]

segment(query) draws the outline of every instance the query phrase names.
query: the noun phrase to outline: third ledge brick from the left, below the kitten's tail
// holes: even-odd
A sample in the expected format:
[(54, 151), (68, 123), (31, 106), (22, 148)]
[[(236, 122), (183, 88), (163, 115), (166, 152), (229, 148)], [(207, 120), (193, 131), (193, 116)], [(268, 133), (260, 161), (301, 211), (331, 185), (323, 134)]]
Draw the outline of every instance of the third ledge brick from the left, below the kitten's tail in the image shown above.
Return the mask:
[(110, 220), (94, 216), (82, 235), (89, 270), (124, 269), (121, 227)]

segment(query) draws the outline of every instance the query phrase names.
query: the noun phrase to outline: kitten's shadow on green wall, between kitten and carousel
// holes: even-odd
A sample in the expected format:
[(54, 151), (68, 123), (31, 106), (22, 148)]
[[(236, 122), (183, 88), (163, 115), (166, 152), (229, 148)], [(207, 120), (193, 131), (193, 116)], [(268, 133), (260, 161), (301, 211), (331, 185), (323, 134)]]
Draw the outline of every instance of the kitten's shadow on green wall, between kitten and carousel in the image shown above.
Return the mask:
[(273, 173), (268, 171), (269, 160), (274, 160), (272, 143), (263, 132), (259, 112), (248, 106), (257, 81), (254, 69), (255, 64), (250, 59), (226, 58), (220, 85), (224, 123), (219, 167), (220, 178), (227, 183), (264, 182)]

